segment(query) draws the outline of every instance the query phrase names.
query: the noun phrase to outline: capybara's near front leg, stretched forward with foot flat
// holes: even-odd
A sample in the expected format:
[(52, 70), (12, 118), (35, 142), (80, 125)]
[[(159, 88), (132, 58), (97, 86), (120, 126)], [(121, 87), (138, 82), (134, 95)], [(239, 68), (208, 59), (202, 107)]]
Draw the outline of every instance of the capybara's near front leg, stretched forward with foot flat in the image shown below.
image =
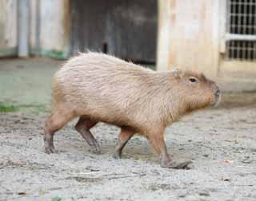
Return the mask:
[(181, 163), (174, 162), (170, 160), (170, 156), (167, 152), (166, 143), (162, 134), (153, 134), (148, 136), (150, 145), (154, 148), (154, 151), (158, 153), (160, 157), (160, 165), (164, 168), (175, 168), (175, 169), (185, 169), (191, 161), (183, 161)]

